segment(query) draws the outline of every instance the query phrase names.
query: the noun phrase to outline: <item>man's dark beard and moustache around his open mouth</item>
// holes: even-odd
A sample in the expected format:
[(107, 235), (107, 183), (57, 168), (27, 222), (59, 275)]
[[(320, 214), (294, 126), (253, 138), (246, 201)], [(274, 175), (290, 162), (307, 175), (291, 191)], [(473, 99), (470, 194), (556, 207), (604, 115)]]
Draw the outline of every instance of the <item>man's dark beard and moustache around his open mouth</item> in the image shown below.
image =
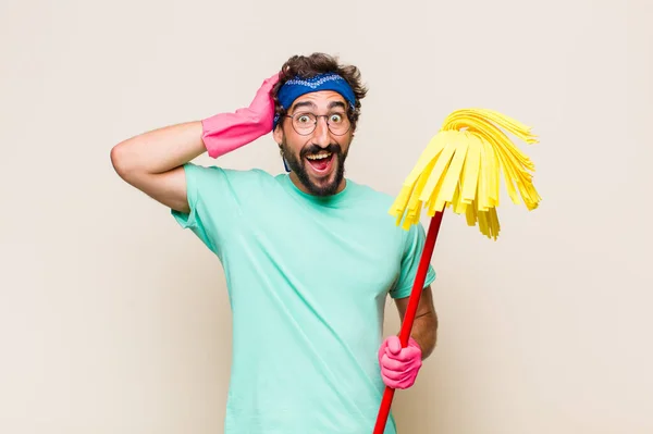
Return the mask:
[[(308, 146), (301, 149), (299, 157), (296, 157), (286, 146), (285, 141), (281, 145), (283, 157), (286, 160), (288, 169), (295, 172), (299, 182), (306, 187), (306, 189), (315, 196), (332, 196), (337, 191), (343, 178), (345, 177), (345, 160), (347, 153), (343, 152), (340, 145), (329, 145), (326, 148), (322, 148), (316, 145)], [(333, 153), (333, 162), (335, 164), (335, 172), (333, 181), (325, 185), (317, 185), (308, 175), (306, 170), (306, 160), (304, 159), (307, 154), (317, 153), (321, 150)]]

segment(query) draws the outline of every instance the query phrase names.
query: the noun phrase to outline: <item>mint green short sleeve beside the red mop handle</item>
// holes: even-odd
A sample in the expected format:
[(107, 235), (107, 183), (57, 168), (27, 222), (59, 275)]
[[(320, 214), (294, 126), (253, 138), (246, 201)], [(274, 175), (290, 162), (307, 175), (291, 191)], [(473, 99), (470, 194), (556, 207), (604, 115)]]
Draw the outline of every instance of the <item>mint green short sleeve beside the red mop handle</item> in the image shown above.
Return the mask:
[[(417, 276), (421, 252), (424, 248), (424, 240), (427, 238), (424, 227), (421, 225), (421, 223), (412, 225), (410, 230), (405, 231), (405, 234), (406, 236), (404, 241), (404, 253), (402, 256), (399, 277), (395, 286), (390, 292), (390, 296), (392, 298), (404, 298), (410, 296), (412, 285), (415, 284), (415, 277)], [(426, 288), (434, 281), (435, 270), (433, 270), (433, 265), (429, 264), (423, 287)]]

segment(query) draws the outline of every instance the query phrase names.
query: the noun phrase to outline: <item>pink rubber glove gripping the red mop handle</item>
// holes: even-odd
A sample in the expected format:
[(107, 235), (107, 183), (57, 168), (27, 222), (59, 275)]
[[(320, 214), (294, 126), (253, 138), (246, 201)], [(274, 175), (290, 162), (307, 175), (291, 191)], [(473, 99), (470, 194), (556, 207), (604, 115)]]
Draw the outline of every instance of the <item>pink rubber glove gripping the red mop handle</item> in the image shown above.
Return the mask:
[(421, 348), (412, 338), (402, 348), (398, 336), (387, 337), (379, 348), (381, 377), (392, 388), (408, 388), (415, 384), (417, 373), (422, 365)]

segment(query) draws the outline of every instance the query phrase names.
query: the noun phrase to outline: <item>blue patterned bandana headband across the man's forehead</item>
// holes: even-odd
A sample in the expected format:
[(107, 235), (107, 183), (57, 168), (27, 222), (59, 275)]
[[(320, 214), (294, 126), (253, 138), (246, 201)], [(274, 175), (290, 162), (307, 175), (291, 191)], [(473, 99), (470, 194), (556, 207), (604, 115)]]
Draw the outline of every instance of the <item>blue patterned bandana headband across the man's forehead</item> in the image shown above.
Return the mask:
[[(279, 89), (276, 98), (281, 106), (285, 110), (288, 110), (293, 102), (300, 96), (320, 90), (336, 91), (343, 96), (352, 108), (356, 107), (356, 96), (354, 95), (354, 90), (352, 90), (352, 87), (346, 79), (335, 73), (320, 74), (311, 78), (292, 78)], [(280, 116), (276, 114), (274, 116), (274, 125), (272, 128), (276, 128)]]

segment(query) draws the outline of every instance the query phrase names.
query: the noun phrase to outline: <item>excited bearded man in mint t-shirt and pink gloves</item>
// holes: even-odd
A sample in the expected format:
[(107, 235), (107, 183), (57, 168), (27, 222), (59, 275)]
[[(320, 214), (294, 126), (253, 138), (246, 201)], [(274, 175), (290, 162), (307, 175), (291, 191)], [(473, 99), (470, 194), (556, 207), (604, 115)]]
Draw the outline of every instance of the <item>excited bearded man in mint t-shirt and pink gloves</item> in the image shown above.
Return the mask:
[[(367, 89), (354, 66), (293, 57), (247, 108), (116, 145), (118, 174), (172, 210), (219, 258), (233, 312), (225, 433), (371, 433), (385, 385), (408, 388), (435, 346), (429, 269), (410, 344), (382, 338), (406, 311), (424, 240), (393, 198), (345, 178)], [(190, 163), (272, 132), (287, 174)], [(395, 433), (390, 417), (386, 433)]]

